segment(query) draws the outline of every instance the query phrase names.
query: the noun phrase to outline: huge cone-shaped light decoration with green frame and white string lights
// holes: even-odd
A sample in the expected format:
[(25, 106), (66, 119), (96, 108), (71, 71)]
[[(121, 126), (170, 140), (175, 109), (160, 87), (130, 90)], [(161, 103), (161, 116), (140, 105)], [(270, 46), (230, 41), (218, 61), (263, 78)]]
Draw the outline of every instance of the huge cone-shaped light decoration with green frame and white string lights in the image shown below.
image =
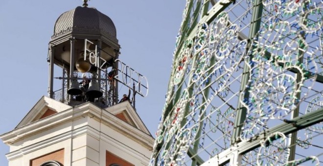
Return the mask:
[(322, 16), (322, 0), (186, 0), (150, 166), (323, 163)]

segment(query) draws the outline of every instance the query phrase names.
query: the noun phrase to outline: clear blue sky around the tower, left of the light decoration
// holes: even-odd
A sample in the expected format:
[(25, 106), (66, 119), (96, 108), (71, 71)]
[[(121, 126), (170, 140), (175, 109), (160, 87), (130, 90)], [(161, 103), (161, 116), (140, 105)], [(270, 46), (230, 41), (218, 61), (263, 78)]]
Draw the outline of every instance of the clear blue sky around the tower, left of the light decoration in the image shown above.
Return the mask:
[[(165, 101), (176, 35), (185, 0), (91, 0), (115, 23), (119, 58), (146, 76), (149, 94), (138, 96), (142, 121), (155, 135)], [(5, 0), (0, 5), (0, 134), (14, 129), (47, 96), (47, 49), (57, 18), (82, 0)], [(123, 86), (124, 87), (124, 86)], [(0, 166), (9, 147), (0, 142)]]

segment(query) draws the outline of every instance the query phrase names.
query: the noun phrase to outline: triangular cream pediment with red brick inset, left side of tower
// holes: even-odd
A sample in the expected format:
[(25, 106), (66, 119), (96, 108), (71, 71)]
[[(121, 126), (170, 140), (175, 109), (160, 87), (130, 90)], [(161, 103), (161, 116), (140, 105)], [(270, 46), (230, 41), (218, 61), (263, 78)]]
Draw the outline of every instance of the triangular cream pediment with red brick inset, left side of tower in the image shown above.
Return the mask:
[(54, 99), (43, 96), (31, 110), (27, 113), (27, 115), (23, 118), (23, 120), (16, 126), (16, 128), (21, 127), (23, 125), (28, 125), (32, 122), (38, 121), (40, 119), (46, 118), (58, 112), (62, 112), (71, 108), (71, 106), (58, 102)]

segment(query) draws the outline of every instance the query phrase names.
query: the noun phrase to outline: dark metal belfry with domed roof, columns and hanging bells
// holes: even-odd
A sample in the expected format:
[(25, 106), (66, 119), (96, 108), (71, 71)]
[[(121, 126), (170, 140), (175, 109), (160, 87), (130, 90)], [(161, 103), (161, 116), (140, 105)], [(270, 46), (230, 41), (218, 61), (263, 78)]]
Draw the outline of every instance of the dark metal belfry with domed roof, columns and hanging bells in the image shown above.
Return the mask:
[[(118, 59), (120, 45), (116, 38), (115, 24), (105, 14), (87, 7), (88, 0), (83, 1), (83, 7), (78, 6), (61, 14), (55, 22), (48, 44), (49, 97), (70, 105), (90, 101), (102, 107), (111, 106), (118, 101), (115, 90), (118, 86), (115, 82), (108, 87), (108, 79), (105, 77), (108, 75), (108, 68), (118, 69), (115, 60)], [(56, 91), (53, 90), (54, 65), (65, 73), (58, 78), (62, 79), (63, 85)], [(77, 81), (83, 78), (79, 78), (79, 73), (88, 76), (83, 89)]]

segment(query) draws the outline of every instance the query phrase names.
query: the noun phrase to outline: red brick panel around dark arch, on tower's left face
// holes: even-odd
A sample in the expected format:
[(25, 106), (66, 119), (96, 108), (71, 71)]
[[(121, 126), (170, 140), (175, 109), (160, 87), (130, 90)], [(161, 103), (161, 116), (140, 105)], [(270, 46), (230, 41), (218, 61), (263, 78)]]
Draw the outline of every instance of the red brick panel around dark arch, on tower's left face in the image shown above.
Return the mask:
[(57, 150), (43, 156), (37, 157), (35, 159), (30, 160), (30, 166), (40, 166), (46, 161), (56, 161), (64, 166), (64, 149)]

